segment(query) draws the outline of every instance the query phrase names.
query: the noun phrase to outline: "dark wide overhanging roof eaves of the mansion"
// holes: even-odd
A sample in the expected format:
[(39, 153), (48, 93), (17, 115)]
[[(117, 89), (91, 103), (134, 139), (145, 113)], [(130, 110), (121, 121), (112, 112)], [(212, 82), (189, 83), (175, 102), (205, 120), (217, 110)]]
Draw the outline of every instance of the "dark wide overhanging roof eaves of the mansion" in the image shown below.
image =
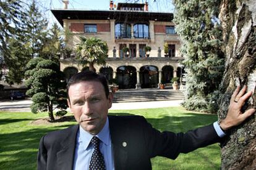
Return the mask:
[(54, 17), (63, 26), (63, 20), (116, 20), (116, 22), (172, 22), (173, 13), (140, 10), (74, 10), (53, 9)]

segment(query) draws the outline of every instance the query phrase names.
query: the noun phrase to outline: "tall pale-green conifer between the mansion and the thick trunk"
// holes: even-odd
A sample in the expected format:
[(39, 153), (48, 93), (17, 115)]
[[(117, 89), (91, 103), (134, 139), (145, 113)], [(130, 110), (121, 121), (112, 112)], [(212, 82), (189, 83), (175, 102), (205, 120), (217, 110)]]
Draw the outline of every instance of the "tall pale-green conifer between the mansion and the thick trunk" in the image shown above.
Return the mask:
[(187, 71), (184, 107), (204, 111), (211, 108), (208, 97), (218, 89), (224, 71), (218, 21), (220, 0), (175, 0), (174, 5), (174, 23), (182, 41), (182, 65)]

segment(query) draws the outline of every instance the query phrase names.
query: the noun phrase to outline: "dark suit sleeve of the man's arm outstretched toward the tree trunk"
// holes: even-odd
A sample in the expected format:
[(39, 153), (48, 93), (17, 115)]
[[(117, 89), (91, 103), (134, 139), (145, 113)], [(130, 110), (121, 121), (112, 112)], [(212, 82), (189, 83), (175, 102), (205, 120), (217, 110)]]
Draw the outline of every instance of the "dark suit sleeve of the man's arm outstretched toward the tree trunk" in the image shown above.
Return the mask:
[(188, 153), (220, 141), (213, 124), (186, 133), (160, 132), (147, 123), (143, 125), (145, 143), (150, 158), (164, 156), (176, 159), (179, 153)]

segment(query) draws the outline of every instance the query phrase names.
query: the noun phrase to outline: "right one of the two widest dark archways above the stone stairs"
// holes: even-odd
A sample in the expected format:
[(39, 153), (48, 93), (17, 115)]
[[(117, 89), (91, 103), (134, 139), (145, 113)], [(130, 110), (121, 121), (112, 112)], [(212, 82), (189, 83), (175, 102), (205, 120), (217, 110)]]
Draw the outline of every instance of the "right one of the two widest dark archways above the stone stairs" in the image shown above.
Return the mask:
[(153, 65), (141, 67), (140, 83), (142, 88), (156, 88), (158, 86), (158, 68)]

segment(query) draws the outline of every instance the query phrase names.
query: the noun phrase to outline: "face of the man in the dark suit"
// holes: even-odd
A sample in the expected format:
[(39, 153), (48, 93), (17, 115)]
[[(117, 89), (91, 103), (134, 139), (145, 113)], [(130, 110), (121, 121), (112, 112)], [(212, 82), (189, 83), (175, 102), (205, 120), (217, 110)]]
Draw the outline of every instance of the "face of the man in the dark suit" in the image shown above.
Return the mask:
[(113, 94), (106, 98), (100, 82), (82, 81), (69, 87), (69, 100), (69, 108), (80, 126), (90, 134), (98, 134), (106, 123)]

